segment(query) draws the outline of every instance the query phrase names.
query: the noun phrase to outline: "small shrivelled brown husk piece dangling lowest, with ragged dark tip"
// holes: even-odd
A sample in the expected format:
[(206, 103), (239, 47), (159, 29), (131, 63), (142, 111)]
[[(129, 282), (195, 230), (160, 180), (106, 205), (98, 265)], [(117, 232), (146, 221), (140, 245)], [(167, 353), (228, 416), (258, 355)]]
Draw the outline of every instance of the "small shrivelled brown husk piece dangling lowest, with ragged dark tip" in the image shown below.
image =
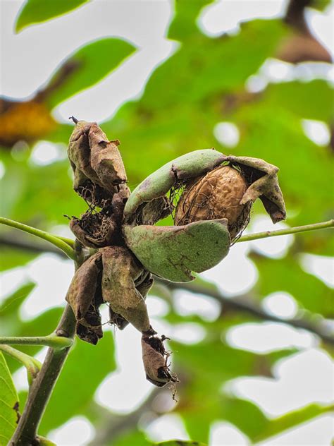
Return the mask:
[(168, 366), (170, 354), (163, 346), (165, 337), (142, 335), (142, 360), (146, 378), (157, 387), (163, 387), (168, 382), (178, 382), (175, 373)]

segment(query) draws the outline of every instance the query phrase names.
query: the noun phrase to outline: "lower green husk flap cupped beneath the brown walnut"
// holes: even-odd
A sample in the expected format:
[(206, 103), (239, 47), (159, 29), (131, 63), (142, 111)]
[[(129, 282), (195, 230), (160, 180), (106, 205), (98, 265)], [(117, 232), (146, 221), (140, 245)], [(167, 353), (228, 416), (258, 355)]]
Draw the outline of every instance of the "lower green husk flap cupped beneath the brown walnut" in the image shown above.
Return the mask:
[(230, 248), (227, 220), (194, 222), (181, 227), (125, 227), (128, 247), (147, 270), (172, 282), (189, 282), (192, 271), (209, 270)]

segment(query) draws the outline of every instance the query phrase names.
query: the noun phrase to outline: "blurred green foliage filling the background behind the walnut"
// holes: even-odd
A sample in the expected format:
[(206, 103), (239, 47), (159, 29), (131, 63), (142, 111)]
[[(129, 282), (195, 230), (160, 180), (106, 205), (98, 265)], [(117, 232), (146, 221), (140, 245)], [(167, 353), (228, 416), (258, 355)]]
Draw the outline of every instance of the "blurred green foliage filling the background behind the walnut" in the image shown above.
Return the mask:
[[(27, 1), (16, 29), (22, 30), (66, 13), (83, 3)], [(287, 224), (308, 224), (330, 218), (333, 157), (330, 147), (319, 147), (307, 138), (302, 119), (319, 120), (330, 126), (333, 90), (326, 80), (316, 79), (269, 84), (259, 93), (247, 92), (246, 80), (259, 71), (266, 59), (275, 57), (280, 42), (289, 38), (292, 31), (281, 20), (252, 20), (243, 24), (237, 35), (207, 37), (199, 30), (197, 17), (203, 6), (210, 3), (209, 0), (175, 1), (175, 16), (168, 30), (168, 38), (178, 42), (174, 54), (154, 70), (139, 100), (126, 102), (115, 116), (102, 123), (109, 138), (118, 138), (121, 142), (130, 187), (173, 157), (190, 150), (214, 145), (217, 150), (228, 153), (230, 149), (214, 138), (214, 126), (228, 121), (235, 123), (240, 131), (233, 155), (263, 157), (280, 167)], [(314, 4), (320, 9), (325, 6), (324, 1)], [(131, 44), (115, 38), (90, 42), (78, 49), (51, 78), (45, 97), (49, 111), (107, 76), (134, 51)], [(65, 77), (64, 73), (67, 73)], [(63, 144), (61, 150), (65, 155), (72, 129), (72, 125), (58, 123), (43, 138)], [(85, 203), (72, 191), (68, 161), (64, 157), (47, 166), (37, 166), (30, 161), (30, 149), (27, 145), (19, 145), (11, 151), (5, 147), (1, 150), (5, 167), (2, 188), (6, 191), (2, 213), (41, 229), (66, 224), (64, 214), (80, 215), (85, 210)], [(256, 210), (261, 212), (259, 206)], [(6, 234), (8, 231), (3, 232), (3, 239)], [(333, 318), (330, 289), (300, 265), (299, 255), (305, 252), (332, 253), (328, 232), (298, 236), (284, 258), (272, 259), (251, 253), (250, 258), (259, 271), (252, 293), (256, 299), (264, 299), (272, 292), (287, 291), (300, 309), (316, 313), (318, 317)], [(1, 263), (1, 269), (24, 265), (36, 255), (5, 247), (3, 259), (6, 260)], [(27, 283), (6, 298), (0, 309), (0, 335), (47, 335), (54, 329), (61, 308), (50, 308), (30, 321), (20, 318), (20, 306), (34, 287), (35, 284)], [(212, 289), (211, 284), (207, 287)], [(168, 305), (173, 303), (171, 292), (159, 291), (156, 287), (154, 293)], [(165, 317), (168, 323), (195, 322), (206, 332), (206, 337), (197, 344), (171, 342), (175, 351), (173, 367), (183, 381), (178, 395), (180, 402), (174, 412), (183, 418), (190, 438), (208, 442), (211, 423), (225, 420), (237, 426), (252, 442), (265, 440), (330, 410), (327, 406), (313, 404), (269, 419), (254, 403), (220, 391), (228, 380), (239, 376), (271, 377), (273, 364), (297, 350), (254, 354), (229, 346), (222, 334), (235, 325), (256, 321), (247, 313), (223, 311), (221, 318), (207, 322), (198, 316), (180, 316), (173, 305), (168, 308)], [(37, 346), (22, 347), (22, 351), (32, 355), (39, 350)], [(3, 361), (2, 356), (0, 360)], [(18, 363), (12, 358), (7, 362), (12, 373), (18, 369)], [(92, 364), (99, 364), (99, 367), (94, 373), (87, 373)], [(110, 332), (97, 346), (77, 342), (51, 397), (40, 433), (47, 435), (78, 414), (97, 421), (102, 408), (92, 416), (94, 392), (114, 370), (116, 362)], [(144, 379), (143, 373), (136, 373), (134, 379)], [(26, 394), (21, 393), (21, 404), (25, 397)], [(5, 435), (7, 439), (9, 434)], [(110, 442), (117, 446), (149, 444), (151, 442), (136, 424)], [(181, 443), (160, 443), (161, 446), (176, 444)]]

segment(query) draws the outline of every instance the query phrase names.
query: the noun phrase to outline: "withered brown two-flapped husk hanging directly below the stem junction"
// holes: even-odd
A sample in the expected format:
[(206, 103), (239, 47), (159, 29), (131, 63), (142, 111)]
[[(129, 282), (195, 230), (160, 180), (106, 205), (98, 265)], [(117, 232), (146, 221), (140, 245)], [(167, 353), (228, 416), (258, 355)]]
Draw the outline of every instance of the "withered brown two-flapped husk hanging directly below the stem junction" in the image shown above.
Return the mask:
[(155, 333), (145, 303), (153, 284), (128, 248), (101, 248), (75, 272), (66, 301), (77, 321), (80, 339), (96, 344), (102, 337), (101, 303), (109, 304), (110, 322), (123, 329), (131, 323), (140, 332)]

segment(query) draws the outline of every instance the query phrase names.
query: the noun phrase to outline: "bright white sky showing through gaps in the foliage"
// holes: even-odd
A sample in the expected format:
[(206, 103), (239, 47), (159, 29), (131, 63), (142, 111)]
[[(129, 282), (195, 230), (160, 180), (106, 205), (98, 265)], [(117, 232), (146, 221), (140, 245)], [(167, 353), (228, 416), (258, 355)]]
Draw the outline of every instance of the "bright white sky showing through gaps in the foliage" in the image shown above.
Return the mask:
[[(54, 114), (60, 121), (67, 122), (68, 116), (72, 114), (82, 116), (88, 121), (107, 119), (123, 101), (140, 95), (151, 69), (175, 48), (175, 44), (168, 42), (164, 37), (172, 15), (168, 1), (94, 0), (73, 13), (27, 28), (19, 35), (14, 35), (13, 23), (22, 4), (23, 1), (0, 1), (0, 86), (4, 95), (18, 98), (32, 95), (47, 81), (66, 56), (85, 42), (99, 37), (123, 37), (139, 47), (139, 51), (111, 76), (58, 106)], [(219, 32), (233, 33), (237, 32), (240, 20), (280, 15), (285, 4), (286, 1), (281, 0), (218, 1), (214, 6), (205, 8), (199, 24), (209, 35), (216, 35)], [(129, 8), (131, 8), (130, 14)], [(333, 7), (326, 15), (311, 11), (308, 19), (317, 37), (330, 48), (333, 44)], [(307, 76), (313, 76), (309, 74), (312, 69), (312, 67), (307, 68)], [(325, 78), (333, 76), (328, 66), (314, 70), (318, 73), (320, 70), (320, 76)], [(247, 87), (256, 90), (264, 88), (268, 82), (304, 76), (303, 73), (289, 64), (271, 60), (249, 80)], [(328, 128), (323, 123), (309, 121), (303, 125), (309, 138), (319, 145), (326, 143)], [(221, 138), (224, 143), (227, 141), (231, 148), (237, 144), (239, 131), (235, 123), (217, 123), (214, 131), (218, 140)], [(31, 161), (47, 164), (63, 156), (62, 154), (63, 151), (59, 147), (40, 142), (32, 152)], [(255, 218), (251, 230), (264, 229), (271, 229), (268, 218)], [(233, 297), (251, 289), (256, 281), (258, 272), (252, 261), (247, 258), (251, 248), (269, 257), (280, 258), (285, 255), (292, 241), (293, 236), (283, 236), (269, 241), (240, 243), (233, 247), (221, 265), (205, 272), (204, 277), (216, 282), (225, 294)], [(300, 260), (307, 272), (333, 286), (333, 263), (330, 258), (303, 255)], [(46, 308), (58, 306), (63, 302), (72, 274), (73, 268), (70, 262), (60, 260), (55, 255), (39, 256), (26, 267), (1, 274), (1, 294), (8, 295), (18, 287), (19, 283), (27, 279), (37, 282), (36, 289), (26, 300), (21, 312), (23, 318), (32, 318)], [(53, 284), (51, 290), (50, 283)], [(48, 299), (45, 299), (46, 295)], [(166, 303), (161, 299), (149, 298), (148, 304), (149, 312), (154, 315), (154, 327), (161, 328), (174, 339), (182, 336), (185, 342), (192, 343), (205, 335), (202, 327), (198, 325), (181, 324), (172, 328), (161, 321), (161, 315), (166, 312)], [(287, 294), (268, 296), (264, 306), (281, 318), (292, 317), (296, 311), (295, 300)], [(214, 320), (218, 315), (215, 302), (203, 296), (191, 297), (187, 293), (178, 293), (176, 308), (180, 314), (197, 313), (204, 320)], [(132, 348), (133, 344), (140, 345), (139, 337), (139, 333), (132, 327), (128, 327), (125, 332), (117, 333), (118, 371), (101, 383), (96, 394), (97, 401), (120, 413), (134, 409), (151, 390), (151, 385), (144, 380), (140, 387), (129, 385), (131, 380), (128, 380), (128, 376), (132, 370), (142, 370), (140, 349), (135, 351)], [(309, 402), (325, 403), (333, 396), (331, 361), (326, 352), (317, 348), (318, 341), (313, 335), (283, 324), (246, 324), (233, 327), (228, 333), (228, 342), (236, 348), (259, 352), (285, 346), (298, 346), (301, 349), (299, 354), (278, 363), (275, 380), (241, 377), (230, 383), (231, 392), (255, 401), (266, 414), (270, 416), (283, 414), (284, 411)], [(23, 370), (19, 370), (14, 378), (19, 388), (26, 386)], [(122, 397), (118, 398), (120, 392)], [(332, 431), (330, 417), (321, 416), (276, 439), (266, 441), (266, 445), (328, 445)], [(168, 440), (173, 436), (180, 439), (187, 438), (182, 420), (175, 414), (166, 414), (151, 423), (147, 426), (147, 432), (154, 440)], [(59, 446), (85, 445), (93, 435), (92, 425), (84, 417), (79, 416), (51, 433), (50, 439), (56, 441)], [(217, 421), (212, 426), (211, 446), (247, 444), (249, 442), (245, 435), (234, 426), (223, 421)]]

